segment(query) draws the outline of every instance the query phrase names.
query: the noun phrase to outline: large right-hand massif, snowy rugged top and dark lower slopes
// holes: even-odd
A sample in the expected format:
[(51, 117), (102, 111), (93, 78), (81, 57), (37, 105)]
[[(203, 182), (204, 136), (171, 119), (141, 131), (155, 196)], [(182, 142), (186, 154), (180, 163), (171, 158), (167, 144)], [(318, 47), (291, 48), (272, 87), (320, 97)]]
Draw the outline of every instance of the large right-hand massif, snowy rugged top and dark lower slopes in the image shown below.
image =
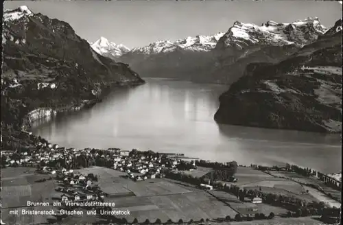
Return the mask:
[(215, 60), (204, 66), (208, 69), (202, 69), (204, 73), (198, 73), (198, 78), (232, 84), (243, 75), (248, 64), (280, 62), (326, 31), (316, 17), (293, 23), (268, 21), (261, 26), (237, 21), (220, 38), (213, 50)]

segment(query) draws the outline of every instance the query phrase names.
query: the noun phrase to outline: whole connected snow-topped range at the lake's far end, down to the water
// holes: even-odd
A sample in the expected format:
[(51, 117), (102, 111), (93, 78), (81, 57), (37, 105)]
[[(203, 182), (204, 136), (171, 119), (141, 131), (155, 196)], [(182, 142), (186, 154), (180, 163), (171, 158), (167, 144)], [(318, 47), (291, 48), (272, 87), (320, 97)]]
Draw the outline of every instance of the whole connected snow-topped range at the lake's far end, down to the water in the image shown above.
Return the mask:
[(232, 84), (249, 63), (280, 62), (326, 31), (318, 18), (261, 26), (236, 21), (225, 34), (152, 43), (132, 49), (119, 61), (142, 76)]

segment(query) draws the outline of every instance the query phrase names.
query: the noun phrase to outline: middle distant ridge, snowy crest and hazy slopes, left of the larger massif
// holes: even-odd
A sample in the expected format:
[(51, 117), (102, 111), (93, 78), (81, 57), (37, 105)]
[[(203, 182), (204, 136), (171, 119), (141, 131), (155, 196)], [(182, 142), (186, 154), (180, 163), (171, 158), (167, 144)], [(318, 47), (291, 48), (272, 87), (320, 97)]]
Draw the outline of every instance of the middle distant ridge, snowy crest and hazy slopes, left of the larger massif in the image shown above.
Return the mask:
[(187, 37), (175, 42), (157, 41), (145, 47), (134, 48), (118, 60), (130, 64), (143, 77), (190, 80), (202, 62), (211, 61), (211, 50), (222, 35), (224, 33)]

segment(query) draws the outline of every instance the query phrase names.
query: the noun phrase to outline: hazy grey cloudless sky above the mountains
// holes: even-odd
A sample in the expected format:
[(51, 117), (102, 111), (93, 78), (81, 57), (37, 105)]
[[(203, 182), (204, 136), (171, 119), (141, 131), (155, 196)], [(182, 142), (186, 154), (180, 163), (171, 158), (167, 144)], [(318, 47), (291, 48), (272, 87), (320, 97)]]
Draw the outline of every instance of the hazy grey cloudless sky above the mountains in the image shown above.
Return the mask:
[(156, 40), (226, 32), (235, 21), (292, 22), (317, 16), (331, 27), (342, 18), (334, 1), (5, 1), (4, 9), (27, 5), (33, 12), (69, 23), (91, 42), (104, 36), (127, 47)]

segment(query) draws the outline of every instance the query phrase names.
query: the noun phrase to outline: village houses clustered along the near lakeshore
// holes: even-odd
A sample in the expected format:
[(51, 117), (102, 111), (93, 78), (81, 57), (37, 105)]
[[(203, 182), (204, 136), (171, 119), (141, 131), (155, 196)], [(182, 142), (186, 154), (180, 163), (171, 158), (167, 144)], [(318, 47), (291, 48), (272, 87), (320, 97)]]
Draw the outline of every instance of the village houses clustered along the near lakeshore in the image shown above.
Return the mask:
[[(130, 156), (130, 151), (118, 148), (99, 151), (92, 151), (90, 148), (75, 150), (74, 148), (59, 147), (57, 144), (42, 142), (36, 143), (36, 147), (29, 148), (27, 151), (8, 151), (1, 152), (1, 154), (8, 156), (5, 159), (5, 166), (7, 167), (40, 167), (40, 173), (56, 175), (60, 182), (70, 186), (68, 188), (60, 188), (59, 190), (64, 193), (73, 194), (74, 200), (78, 198), (78, 195), (80, 196), (80, 193), (75, 191), (73, 186), (82, 187), (82, 190), (92, 190), (92, 180), (84, 175), (74, 175), (73, 169), (54, 167), (53, 165), (56, 165), (54, 162), (56, 163), (60, 158), (67, 164), (71, 163), (73, 158), (81, 155), (93, 156), (93, 158), (106, 158), (107, 161), (113, 162), (113, 169), (126, 172), (128, 177), (134, 181), (163, 178), (165, 176), (163, 173), (164, 169), (178, 169), (180, 163), (182, 165), (185, 164), (185, 162), (181, 162), (180, 159), (173, 158), (172, 156), (157, 157), (151, 155), (144, 156), (142, 154)], [(16, 157), (13, 157), (13, 154), (16, 154)], [(195, 167), (196, 165), (193, 163), (188, 168)], [(93, 196), (86, 196), (86, 199), (95, 198), (95, 193), (90, 192), (88, 194)], [(63, 198), (66, 199), (68, 197), (65, 195)], [(101, 198), (101, 196), (97, 195), (97, 198)]]

